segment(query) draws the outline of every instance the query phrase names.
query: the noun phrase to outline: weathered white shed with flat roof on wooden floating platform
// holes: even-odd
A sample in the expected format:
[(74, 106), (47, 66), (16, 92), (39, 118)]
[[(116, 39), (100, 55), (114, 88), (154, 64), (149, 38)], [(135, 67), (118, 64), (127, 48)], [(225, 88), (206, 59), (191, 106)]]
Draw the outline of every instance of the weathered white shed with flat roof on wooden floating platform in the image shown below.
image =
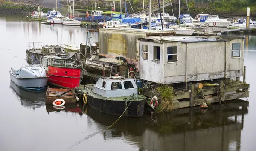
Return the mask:
[(243, 76), (242, 37), (151, 37), (137, 45), (144, 80), (171, 84)]

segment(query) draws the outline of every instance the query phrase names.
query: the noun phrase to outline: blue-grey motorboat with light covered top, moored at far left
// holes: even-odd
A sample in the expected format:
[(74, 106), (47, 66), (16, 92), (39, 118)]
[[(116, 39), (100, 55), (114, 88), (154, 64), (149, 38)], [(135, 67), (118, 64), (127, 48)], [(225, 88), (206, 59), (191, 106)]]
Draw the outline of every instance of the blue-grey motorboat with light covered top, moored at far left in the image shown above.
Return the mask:
[(9, 73), (11, 81), (21, 89), (41, 92), (46, 88), (48, 77), (40, 65), (26, 65), (19, 70), (11, 68)]

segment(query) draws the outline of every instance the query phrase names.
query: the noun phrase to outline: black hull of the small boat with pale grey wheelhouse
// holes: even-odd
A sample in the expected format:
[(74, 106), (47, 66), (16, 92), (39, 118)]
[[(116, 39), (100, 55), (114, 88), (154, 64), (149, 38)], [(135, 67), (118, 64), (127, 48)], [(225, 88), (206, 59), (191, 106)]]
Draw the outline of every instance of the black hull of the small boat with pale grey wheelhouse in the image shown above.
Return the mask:
[[(93, 94), (93, 93), (92, 93)], [(122, 115), (125, 111), (126, 107), (129, 105), (131, 101), (125, 100), (117, 100), (116, 98), (108, 100), (104, 98), (96, 98), (91, 96), (90, 94), (87, 95), (88, 104), (105, 113), (113, 114), (113, 115)], [(123, 114), (123, 116), (128, 117), (141, 117), (144, 112), (144, 98), (141, 100), (133, 100), (128, 107), (127, 111)]]

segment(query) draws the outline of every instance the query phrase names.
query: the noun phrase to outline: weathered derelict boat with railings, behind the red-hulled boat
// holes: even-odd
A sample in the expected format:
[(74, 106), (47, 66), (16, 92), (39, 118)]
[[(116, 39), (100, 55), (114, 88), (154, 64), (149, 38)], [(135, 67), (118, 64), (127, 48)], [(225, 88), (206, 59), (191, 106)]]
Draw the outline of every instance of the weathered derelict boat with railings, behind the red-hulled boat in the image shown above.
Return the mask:
[(75, 45), (45, 45), (41, 42), (28, 43), (28, 48), (26, 50), (26, 61), (28, 64), (40, 64), (41, 56), (66, 56), (73, 58), (76, 52), (80, 49)]

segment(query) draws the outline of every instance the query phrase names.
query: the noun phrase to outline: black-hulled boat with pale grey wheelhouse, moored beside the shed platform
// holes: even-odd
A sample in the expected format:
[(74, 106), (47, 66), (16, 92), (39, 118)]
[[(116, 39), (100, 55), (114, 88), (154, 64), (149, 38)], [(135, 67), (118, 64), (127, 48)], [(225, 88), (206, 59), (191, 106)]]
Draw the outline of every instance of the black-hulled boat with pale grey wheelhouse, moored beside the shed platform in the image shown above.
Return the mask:
[[(134, 79), (121, 76), (101, 77), (94, 85), (81, 85), (76, 92), (93, 108), (114, 115), (141, 117), (145, 98), (138, 95)], [(81, 97), (80, 97), (81, 98)]]

